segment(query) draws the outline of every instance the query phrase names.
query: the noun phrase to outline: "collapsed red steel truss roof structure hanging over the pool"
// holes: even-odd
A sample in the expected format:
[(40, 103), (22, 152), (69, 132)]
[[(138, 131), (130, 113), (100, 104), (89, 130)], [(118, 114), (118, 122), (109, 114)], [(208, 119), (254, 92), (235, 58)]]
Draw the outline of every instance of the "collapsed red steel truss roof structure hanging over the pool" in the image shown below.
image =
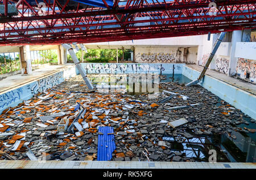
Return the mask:
[(0, 14), (0, 46), (137, 40), (256, 27), (255, 0), (0, 0), (0, 4), (15, 4), (18, 9), (18, 15)]

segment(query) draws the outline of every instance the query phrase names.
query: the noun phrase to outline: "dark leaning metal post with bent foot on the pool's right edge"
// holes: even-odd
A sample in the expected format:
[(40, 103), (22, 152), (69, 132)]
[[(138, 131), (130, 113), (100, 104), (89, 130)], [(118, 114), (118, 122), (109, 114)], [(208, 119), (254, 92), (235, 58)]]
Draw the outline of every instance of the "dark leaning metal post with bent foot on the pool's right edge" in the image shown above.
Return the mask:
[(200, 80), (204, 77), (204, 74), (205, 74), (205, 72), (207, 71), (207, 69), (208, 69), (208, 67), (209, 67), (209, 65), (210, 65), (210, 62), (212, 62), (212, 59), (213, 59), (215, 53), (217, 52), (218, 47), (220, 46), (220, 44), (221, 44), (223, 38), (225, 37), (225, 35), (226, 35), (226, 32), (221, 32), (220, 37), (218, 37), (218, 39), (216, 40), (215, 45), (214, 45), (214, 48), (213, 48), (213, 50), (212, 50), (212, 53), (210, 53), (210, 57), (209, 57), (207, 63), (205, 64), (204, 69), (203, 69), (203, 71), (201, 72), (199, 78), (196, 79), (196, 80), (193, 80), (193, 81), (190, 82), (190, 83), (188, 83), (186, 86), (195, 85), (195, 84), (199, 83)]

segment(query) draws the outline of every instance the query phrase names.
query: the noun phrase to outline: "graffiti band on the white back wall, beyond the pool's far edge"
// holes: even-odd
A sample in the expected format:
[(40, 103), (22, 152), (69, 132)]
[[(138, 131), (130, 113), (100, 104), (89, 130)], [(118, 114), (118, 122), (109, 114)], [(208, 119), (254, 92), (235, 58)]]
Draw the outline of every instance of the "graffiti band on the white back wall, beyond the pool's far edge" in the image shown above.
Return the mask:
[(156, 53), (149, 53), (149, 54), (146, 54), (146, 53), (143, 53), (141, 55), (141, 61), (142, 62), (155, 62), (155, 63), (171, 63), (171, 62), (176, 62), (176, 58), (174, 57), (173, 54), (171, 53), (167, 53), (167, 54), (164, 54), (164, 53), (159, 53), (159, 54), (156, 54)]

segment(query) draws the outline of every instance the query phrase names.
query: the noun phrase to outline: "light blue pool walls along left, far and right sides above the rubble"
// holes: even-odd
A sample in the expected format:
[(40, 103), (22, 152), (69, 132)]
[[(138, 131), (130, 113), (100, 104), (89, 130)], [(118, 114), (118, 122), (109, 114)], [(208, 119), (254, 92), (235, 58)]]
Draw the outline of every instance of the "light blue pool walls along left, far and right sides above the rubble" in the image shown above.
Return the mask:
[[(129, 73), (154, 73), (172, 74), (173, 65), (175, 66), (175, 74), (183, 74), (191, 80), (198, 78), (200, 72), (193, 70), (185, 64), (172, 63), (81, 63), (88, 74), (90, 73), (113, 73), (113, 74), (129, 74)], [(38, 92), (46, 91), (57, 84), (64, 82), (72, 76), (78, 74), (79, 71), (75, 66), (69, 67), (55, 74), (34, 80), (22, 87), (12, 89), (8, 92), (0, 94), (0, 114), (3, 110), (18, 105), (23, 100), (28, 100)], [(251, 118), (256, 119), (256, 96), (242, 89), (236, 88), (228, 83), (222, 82), (216, 78), (205, 75), (203, 83), (200, 84), (214, 95), (225, 100)]]

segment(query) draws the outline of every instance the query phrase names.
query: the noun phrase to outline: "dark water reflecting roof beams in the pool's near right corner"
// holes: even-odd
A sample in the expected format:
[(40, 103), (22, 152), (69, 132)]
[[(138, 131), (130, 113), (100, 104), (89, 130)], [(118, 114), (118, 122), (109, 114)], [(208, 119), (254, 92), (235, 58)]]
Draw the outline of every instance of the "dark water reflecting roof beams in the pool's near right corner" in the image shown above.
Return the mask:
[(217, 152), (217, 162), (256, 162), (255, 142), (233, 131), (237, 139), (228, 134), (212, 136), (194, 136), (192, 139), (183, 136), (163, 136), (163, 140), (171, 143), (171, 151), (184, 153), (195, 161), (208, 162), (209, 151)]

